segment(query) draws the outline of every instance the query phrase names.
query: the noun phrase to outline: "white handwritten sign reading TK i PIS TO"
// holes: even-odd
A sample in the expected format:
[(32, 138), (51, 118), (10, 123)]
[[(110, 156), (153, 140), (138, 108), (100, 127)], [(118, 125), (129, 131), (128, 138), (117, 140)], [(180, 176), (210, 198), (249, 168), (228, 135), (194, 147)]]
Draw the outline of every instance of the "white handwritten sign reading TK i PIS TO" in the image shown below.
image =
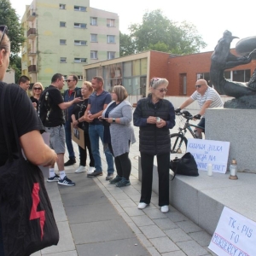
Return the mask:
[(224, 207), (209, 249), (217, 255), (256, 255), (256, 223)]

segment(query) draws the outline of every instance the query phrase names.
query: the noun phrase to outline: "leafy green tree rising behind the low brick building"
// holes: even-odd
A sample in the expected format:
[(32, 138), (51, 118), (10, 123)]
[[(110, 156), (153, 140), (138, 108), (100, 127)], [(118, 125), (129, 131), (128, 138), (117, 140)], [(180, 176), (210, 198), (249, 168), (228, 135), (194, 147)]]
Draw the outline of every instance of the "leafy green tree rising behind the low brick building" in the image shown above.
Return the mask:
[[(145, 13), (142, 24), (131, 24), (129, 31), (131, 34), (126, 36), (131, 38), (134, 45), (133, 53), (154, 49), (186, 55), (199, 52), (207, 46), (193, 24), (186, 21), (178, 24), (168, 20), (160, 9)], [(121, 41), (120, 45), (123, 53), (128, 52)]]

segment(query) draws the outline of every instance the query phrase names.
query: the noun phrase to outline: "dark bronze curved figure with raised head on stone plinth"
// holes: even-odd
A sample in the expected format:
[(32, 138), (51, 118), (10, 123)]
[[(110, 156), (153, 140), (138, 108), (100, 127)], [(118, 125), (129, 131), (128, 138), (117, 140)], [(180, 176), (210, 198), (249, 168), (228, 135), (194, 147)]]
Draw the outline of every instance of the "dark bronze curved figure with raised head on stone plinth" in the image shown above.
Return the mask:
[(231, 32), (225, 31), (223, 37), (218, 40), (218, 44), (211, 57), (211, 82), (214, 85), (214, 89), (222, 95), (233, 96), (235, 98), (254, 96), (256, 95), (256, 88), (248, 87), (248, 83), (230, 82), (224, 78), (225, 69), (244, 65), (252, 61), (251, 54), (253, 51), (251, 54), (241, 57), (230, 53), (230, 43), (234, 38), (237, 37), (233, 37)]

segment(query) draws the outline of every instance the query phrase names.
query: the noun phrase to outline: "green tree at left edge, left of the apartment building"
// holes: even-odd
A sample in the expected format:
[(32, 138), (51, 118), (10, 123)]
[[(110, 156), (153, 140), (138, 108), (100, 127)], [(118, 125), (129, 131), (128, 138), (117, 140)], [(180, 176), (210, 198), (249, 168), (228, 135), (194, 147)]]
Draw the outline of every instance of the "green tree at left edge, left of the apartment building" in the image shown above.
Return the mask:
[[(10, 67), (16, 69), (17, 55), (20, 46), (25, 41), (23, 28), (20, 26), (19, 16), (12, 8), (9, 0), (0, 0), (0, 25), (8, 26), (8, 36), (11, 41)], [(21, 64), (20, 64), (21, 66)]]

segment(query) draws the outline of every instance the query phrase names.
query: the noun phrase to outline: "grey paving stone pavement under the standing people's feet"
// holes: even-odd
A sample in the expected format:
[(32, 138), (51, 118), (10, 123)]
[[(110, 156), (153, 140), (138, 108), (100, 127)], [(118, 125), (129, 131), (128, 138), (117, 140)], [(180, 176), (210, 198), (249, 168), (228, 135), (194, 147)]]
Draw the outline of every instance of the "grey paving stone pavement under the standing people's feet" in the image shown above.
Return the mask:
[(107, 163), (102, 147), (103, 176), (74, 173), (79, 166), (79, 151), (73, 143), (77, 163), (68, 166), (66, 172), (76, 186), (46, 183), (60, 231), (59, 244), (33, 256), (216, 255), (207, 248), (211, 236), (172, 206), (169, 212), (160, 212), (154, 192), (150, 205), (144, 210), (137, 209), (141, 190), (137, 127), (135, 132), (137, 143), (131, 145), (130, 152), (131, 186), (125, 188), (105, 180)]

